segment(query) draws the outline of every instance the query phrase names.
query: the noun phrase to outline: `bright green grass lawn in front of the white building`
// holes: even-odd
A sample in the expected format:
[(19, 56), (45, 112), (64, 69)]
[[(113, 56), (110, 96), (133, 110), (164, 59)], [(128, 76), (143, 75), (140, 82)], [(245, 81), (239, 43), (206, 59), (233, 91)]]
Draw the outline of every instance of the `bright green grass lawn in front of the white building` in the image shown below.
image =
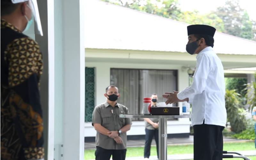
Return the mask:
[[(244, 143), (224, 143), (223, 150), (227, 151), (242, 151), (242, 150), (255, 150), (254, 142)], [(84, 159), (95, 159), (95, 149), (84, 150)], [(129, 147), (127, 148), (126, 157), (143, 156), (144, 147)], [(193, 145), (175, 145), (167, 147), (167, 155), (172, 154), (190, 154), (193, 153)], [(156, 156), (156, 147), (152, 146), (150, 150), (151, 156)], [(251, 160), (256, 160), (256, 156), (250, 157)], [(232, 159), (236, 160), (236, 159)], [(241, 159), (237, 159), (241, 160)]]

